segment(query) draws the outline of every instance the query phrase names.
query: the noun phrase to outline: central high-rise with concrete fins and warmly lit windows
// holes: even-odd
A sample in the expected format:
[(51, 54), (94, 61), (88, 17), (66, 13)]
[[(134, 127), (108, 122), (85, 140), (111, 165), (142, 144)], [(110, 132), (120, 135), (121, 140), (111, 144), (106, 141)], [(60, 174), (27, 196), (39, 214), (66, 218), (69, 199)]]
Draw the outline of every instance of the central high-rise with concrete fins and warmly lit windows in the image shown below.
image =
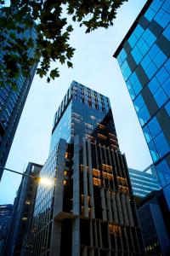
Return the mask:
[(142, 255), (109, 98), (73, 81), (54, 117), (24, 255)]

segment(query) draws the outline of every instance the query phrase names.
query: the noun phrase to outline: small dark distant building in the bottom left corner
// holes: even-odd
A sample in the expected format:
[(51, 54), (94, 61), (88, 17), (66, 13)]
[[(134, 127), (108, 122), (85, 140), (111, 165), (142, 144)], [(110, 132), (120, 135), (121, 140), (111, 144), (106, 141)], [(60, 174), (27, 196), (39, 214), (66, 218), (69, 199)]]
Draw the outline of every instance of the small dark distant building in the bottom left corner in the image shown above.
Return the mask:
[(13, 205), (0, 206), (0, 255), (3, 255), (3, 250), (8, 236), (13, 211)]

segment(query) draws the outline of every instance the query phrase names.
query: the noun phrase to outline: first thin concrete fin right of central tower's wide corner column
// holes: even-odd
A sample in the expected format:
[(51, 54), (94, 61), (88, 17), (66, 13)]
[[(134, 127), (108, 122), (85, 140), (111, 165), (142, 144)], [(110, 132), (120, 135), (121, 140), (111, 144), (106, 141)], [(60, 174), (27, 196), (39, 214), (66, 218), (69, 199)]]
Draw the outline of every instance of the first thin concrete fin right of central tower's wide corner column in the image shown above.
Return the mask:
[(86, 140), (84, 137), (82, 138), (82, 159), (83, 159), (84, 216), (88, 217), (88, 172), (87, 172)]

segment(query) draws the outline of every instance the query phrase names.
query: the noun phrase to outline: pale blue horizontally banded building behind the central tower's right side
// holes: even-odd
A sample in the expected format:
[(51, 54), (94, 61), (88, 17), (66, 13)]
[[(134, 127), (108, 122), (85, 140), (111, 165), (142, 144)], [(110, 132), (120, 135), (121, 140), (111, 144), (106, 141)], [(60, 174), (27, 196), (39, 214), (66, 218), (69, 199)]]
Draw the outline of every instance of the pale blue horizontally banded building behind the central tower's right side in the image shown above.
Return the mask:
[(141, 201), (150, 192), (161, 189), (155, 166), (149, 166), (143, 172), (128, 168), (130, 180), (133, 187), (135, 201)]

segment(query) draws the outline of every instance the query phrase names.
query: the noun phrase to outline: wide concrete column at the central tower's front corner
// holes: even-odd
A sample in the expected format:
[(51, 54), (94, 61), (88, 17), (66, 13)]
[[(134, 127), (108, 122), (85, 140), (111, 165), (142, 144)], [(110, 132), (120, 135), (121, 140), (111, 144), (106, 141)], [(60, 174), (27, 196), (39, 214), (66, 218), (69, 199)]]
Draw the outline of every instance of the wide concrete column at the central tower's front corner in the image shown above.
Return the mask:
[(74, 139), (73, 159), (73, 214), (80, 214), (79, 136)]

